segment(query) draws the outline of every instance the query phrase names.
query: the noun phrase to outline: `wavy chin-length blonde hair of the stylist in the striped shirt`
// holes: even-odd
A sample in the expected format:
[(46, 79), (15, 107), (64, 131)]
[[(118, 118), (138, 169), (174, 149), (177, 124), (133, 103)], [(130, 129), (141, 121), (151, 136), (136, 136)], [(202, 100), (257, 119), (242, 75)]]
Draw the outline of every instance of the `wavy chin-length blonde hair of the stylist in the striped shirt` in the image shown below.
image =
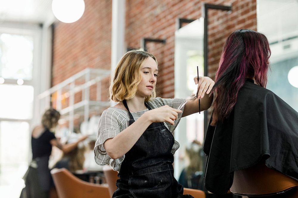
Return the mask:
[[(142, 80), (140, 69), (148, 58), (158, 62), (151, 53), (141, 50), (132, 50), (125, 53), (115, 69), (114, 79), (110, 86), (110, 99), (115, 102), (132, 99), (136, 95), (138, 85)], [(156, 97), (155, 87), (150, 96), (145, 97), (145, 102)]]

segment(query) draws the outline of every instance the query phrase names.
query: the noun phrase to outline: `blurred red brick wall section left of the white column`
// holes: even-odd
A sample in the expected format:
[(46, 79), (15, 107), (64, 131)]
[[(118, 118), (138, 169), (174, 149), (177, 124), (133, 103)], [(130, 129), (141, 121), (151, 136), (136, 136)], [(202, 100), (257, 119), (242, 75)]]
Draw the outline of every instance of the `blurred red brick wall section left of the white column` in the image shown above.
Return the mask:
[(55, 23), (52, 85), (89, 68), (110, 69), (111, 0), (85, 0), (75, 23)]

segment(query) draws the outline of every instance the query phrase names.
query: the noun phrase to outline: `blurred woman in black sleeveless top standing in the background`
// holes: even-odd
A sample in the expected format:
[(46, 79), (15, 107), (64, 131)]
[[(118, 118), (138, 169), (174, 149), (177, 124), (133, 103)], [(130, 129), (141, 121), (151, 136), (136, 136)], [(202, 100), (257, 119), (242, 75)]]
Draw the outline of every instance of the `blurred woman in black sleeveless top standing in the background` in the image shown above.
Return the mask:
[(60, 113), (50, 108), (45, 111), (41, 119), (41, 125), (36, 126), (32, 131), (32, 162), (24, 177), (26, 187), (22, 191), (21, 197), (32, 198), (49, 197), (49, 190), (53, 186), (51, 173), (49, 170), (49, 156), (52, 152), (52, 146), (56, 146), (68, 153), (75, 149), (79, 142), (85, 140), (87, 136), (81, 137), (77, 142), (62, 145), (51, 132), (60, 118)]

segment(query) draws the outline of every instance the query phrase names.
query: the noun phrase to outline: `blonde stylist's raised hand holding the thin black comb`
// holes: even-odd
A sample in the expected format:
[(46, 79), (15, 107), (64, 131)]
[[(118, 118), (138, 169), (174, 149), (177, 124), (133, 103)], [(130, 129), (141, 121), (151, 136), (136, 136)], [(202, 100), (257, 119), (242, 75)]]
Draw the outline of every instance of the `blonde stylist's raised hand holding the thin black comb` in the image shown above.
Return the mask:
[(205, 94), (209, 94), (215, 84), (215, 82), (207, 76), (200, 76), (199, 82), (198, 77), (194, 77), (193, 80), (195, 84), (198, 84), (198, 99), (203, 98)]

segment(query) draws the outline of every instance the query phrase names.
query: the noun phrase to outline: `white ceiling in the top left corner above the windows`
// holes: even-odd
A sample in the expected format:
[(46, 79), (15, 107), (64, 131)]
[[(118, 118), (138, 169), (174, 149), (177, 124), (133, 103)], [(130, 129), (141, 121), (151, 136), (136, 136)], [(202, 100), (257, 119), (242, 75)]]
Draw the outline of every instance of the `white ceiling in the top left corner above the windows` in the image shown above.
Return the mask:
[(0, 0), (0, 23), (44, 23), (52, 16), (52, 0)]

